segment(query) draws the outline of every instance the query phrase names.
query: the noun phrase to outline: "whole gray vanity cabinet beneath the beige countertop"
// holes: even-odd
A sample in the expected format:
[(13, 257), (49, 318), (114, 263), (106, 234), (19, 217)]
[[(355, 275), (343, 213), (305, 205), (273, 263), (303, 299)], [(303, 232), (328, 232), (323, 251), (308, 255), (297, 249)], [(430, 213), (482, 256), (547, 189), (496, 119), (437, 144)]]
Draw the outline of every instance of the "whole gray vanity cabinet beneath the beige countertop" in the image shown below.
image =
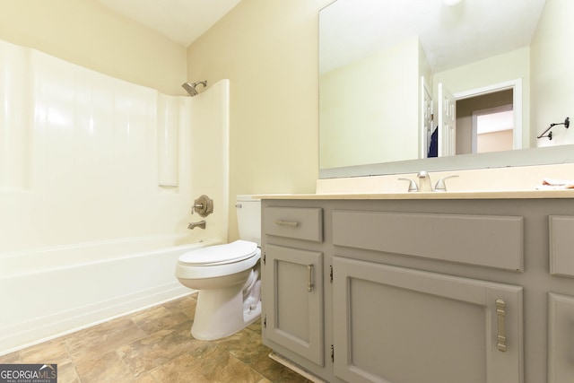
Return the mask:
[(570, 382), (570, 201), (264, 198), (263, 342), (328, 382)]

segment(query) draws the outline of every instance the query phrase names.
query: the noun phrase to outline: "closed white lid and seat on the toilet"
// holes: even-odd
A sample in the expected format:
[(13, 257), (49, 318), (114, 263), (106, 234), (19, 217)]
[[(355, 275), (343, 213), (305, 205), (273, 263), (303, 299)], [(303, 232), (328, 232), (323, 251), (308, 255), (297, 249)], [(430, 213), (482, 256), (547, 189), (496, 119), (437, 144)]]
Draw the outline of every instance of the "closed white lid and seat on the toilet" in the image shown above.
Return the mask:
[(183, 265), (221, 265), (239, 262), (253, 257), (257, 243), (248, 240), (236, 240), (225, 245), (210, 246), (189, 251), (179, 257)]

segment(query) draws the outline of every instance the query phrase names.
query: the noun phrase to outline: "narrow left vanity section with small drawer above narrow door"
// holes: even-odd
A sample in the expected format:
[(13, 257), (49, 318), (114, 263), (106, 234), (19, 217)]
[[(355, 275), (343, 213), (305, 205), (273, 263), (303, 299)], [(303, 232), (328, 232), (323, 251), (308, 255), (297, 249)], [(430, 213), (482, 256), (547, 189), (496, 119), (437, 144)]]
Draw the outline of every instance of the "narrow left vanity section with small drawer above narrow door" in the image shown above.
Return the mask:
[(268, 207), (262, 227), (264, 343), (323, 367), (323, 253), (313, 249), (323, 241), (322, 209)]

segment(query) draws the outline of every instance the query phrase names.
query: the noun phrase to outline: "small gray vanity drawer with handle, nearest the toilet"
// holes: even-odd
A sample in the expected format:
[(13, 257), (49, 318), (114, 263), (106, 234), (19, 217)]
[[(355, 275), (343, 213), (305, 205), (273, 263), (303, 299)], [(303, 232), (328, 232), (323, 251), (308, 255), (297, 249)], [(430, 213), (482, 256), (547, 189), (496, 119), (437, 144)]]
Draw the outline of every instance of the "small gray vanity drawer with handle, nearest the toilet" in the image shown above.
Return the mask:
[(322, 242), (323, 209), (266, 207), (263, 231), (267, 235)]

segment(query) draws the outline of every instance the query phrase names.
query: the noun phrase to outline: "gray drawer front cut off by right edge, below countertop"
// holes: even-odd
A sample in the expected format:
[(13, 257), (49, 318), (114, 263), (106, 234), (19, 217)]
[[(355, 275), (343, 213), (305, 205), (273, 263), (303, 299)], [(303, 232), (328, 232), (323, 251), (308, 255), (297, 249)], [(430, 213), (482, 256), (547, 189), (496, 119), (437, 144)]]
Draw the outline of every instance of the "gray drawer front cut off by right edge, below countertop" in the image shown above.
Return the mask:
[(551, 215), (550, 274), (574, 277), (574, 217)]

